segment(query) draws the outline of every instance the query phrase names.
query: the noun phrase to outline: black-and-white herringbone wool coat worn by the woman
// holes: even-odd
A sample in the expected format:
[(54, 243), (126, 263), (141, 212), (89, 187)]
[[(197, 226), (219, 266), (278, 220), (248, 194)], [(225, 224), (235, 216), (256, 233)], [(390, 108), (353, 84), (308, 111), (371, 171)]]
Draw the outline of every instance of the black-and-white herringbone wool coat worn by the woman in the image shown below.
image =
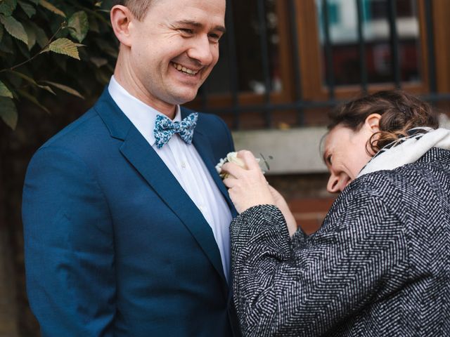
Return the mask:
[(231, 248), (244, 336), (450, 336), (450, 151), (357, 178), (309, 237), (253, 207)]

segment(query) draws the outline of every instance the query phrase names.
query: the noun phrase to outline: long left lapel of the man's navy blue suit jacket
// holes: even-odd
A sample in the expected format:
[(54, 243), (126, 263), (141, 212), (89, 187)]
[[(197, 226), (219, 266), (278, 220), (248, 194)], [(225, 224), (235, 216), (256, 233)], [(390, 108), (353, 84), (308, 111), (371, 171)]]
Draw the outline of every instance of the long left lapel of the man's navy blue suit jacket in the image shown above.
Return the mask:
[(111, 136), (123, 140), (120, 152), (139, 171), (169, 209), (186, 225), (221, 276), (226, 291), (226, 279), (219, 248), (203, 214), (169, 171), (164, 161), (153, 150), (153, 147), (150, 147), (141, 133), (117, 107), (110, 97), (108, 89), (103, 92), (95, 109), (107, 124)]

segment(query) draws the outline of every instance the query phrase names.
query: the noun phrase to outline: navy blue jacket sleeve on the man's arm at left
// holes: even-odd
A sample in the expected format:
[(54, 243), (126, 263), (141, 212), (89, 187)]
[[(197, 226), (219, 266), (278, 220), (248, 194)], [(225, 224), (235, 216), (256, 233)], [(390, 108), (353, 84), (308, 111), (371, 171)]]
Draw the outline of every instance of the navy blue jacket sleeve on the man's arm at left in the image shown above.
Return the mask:
[(23, 225), (27, 293), (42, 336), (113, 336), (113, 230), (82, 159), (49, 147), (34, 155)]

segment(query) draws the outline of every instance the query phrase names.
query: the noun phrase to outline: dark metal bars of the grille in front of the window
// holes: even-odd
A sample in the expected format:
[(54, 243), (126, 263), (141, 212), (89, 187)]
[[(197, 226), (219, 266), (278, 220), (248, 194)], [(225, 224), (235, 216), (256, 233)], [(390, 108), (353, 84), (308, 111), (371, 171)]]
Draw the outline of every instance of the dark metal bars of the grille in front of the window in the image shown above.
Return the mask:
[[(293, 102), (289, 103), (273, 103), (271, 101), (271, 74), (269, 72), (269, 47), (267, 44), (267, 27), (266, 27), (266, 0), (257, 0), (257, 19), (258, 19), (258, 32), (259, 32), (259, 57), (261, 58), (260, 63), (262, 65), (261, 73), (263, 74), (264, 80), (264, 93), (262, 96), (264, 98), (262, 104), (257, 105), (240, 105), (238, 95), (239, 86), (238, 79), (241, 72), (245, 70), (238, 68), (238, 59), (236, 54), (236, 32), (235, 23), (233, 22), (233, 1), (226, 0), (227, 2), (227, 13), (226, 13), (226, 27), (227, 34), (221, 44), (226, 44), (228, 55), (226, 62), (229, 67), (229, 93), (231, 93), (231, 104), (226, 107), (209, 107), (208, 102), (208, 91), (207, 86), (200, 88), (200, 101), (202, 103), (202, 108), (204, 111), (212, 112), (215, 114), (231, 114), (233, 116), (233, 127), (240, 128), (240, 114), (243, 112), (257, 111), (262, 114), (264, 118), (266, 127), (271, 126), (271, 119), (273, 117), (274, 111), (283, 112), (283, 110), (295, 110), (297, 113), (297, 125), (304, 125), (304, 110), (310, 108), (318, 107), (333, 107), (337, 104), (342, 103), (336, 99), (335, 91), (335, 77), (333, 74), (333, 50), (332, 42), (330, 39), (330, 13), (328, 1), (321, 1), (321, 11), (323, 15), (323, 20), (321, 27), (323, 29), (323, 48), (324, 48), (324, 60), (326, 68), (330, 71), (326, 72), (325, 85), (328, 88), (328, 99), (321, 101), (311, 101), (304, 100), (302, 95), (301, 78), (302, 74), (300, 72), (300, 53), (299, 53), (299, 41), (297, 36), (297, 25), (295, 16), (295, 1), (288, 1), (289, 9), (289, 20), (290, 20), (290, 46), (292, 50), (290, 53), (293, 58), (293, 86), (295, 99)], [(349, 0), (350, 1), (350, 0)], [(364, 39), (363, 25), (364, 25), (364, 13), (363, 13), (363, 1), (366, 0), (352, 0), (356, 2), (356, 15), (357, 15), (357, 48), (359, 51), (359, 86), (361, 92), (366, 93), (370, 85), (367, 72), (366, 64), (366, 41)], [(400, 74), (400, 64), (399, 64), (399, 35), (397, 27), (397, 0), (385, 0), (387, 6), (387, 21), (389, 25), (389, 41), (390, 41), (390, 57), (391, 57), (391, 70), (392, 70), (392, 82), (396, 88), (402, 88), (401, 74)], [(333, 20), (335, 13), (333, 13)], [(421, 98), (428, 100), (431, 103), (436, 103), (439, 101), (450, 100), (450, 93), (437, 93), (437, 79), (436, 79), (436, 67), (435, 67), (435, 44), (433, 40), (433, 25), (432, 25), (432, 1), (425, 1), (425, 32), (427, 34), (428, 44), (426, 46), (426, 53), (428, 53), (428, 83), (429, 92), (422, 95)]]

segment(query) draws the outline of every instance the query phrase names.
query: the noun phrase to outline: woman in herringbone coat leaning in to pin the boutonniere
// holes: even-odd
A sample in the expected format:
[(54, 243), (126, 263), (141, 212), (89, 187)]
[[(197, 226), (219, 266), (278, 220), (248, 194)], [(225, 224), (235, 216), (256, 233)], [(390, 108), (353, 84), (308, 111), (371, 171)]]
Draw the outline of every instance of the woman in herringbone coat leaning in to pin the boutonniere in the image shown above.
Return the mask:
[(328, 190), (307, 236), (248, 151), (224, 183), (244, 336), (450, 336), (450, 131), (430, 106), (383, 91), (330, 114)]

